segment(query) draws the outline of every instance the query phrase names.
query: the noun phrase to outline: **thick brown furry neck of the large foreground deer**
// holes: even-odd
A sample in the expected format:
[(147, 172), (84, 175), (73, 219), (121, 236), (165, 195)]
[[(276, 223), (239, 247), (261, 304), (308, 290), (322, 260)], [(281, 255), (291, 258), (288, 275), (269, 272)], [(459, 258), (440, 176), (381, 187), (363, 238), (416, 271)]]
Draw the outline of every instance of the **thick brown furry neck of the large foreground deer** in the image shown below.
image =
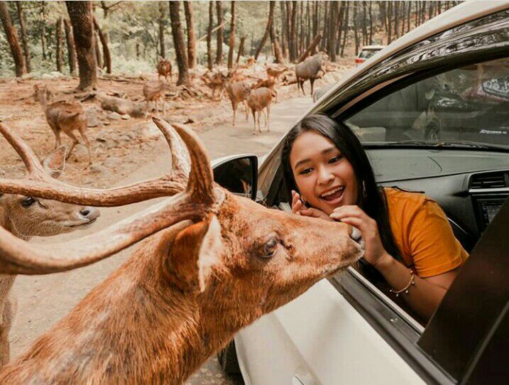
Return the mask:
[(209, 319), (212, 308), (170, 286), (154, 269), (159, 261), (136, 254), (3, 369), (0, 383), (181, 384), (231, 339), (217, 315), (216, 325)]

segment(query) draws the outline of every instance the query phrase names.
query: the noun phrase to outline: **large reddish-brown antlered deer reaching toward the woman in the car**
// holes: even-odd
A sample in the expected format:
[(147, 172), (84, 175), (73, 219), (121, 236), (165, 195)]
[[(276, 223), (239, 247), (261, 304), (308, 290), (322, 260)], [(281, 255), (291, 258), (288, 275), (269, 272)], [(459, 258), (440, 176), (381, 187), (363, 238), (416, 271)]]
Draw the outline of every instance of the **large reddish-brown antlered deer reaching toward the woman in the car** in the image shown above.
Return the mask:
[(109, 190), (0, 180), (5, 193), (102, 207), (167, 197), (60, 244), (36, 248), (0, 228), (1, 273), (69, 271), (144, 239), (6, 365), (0, 383), (182, 384), (242, 327), (363, 255), (361, 233), (349, 224), (270, 209), (221, 188), (191, 129), (153, 121), (172, 154), (172, 170), (155, 180)]

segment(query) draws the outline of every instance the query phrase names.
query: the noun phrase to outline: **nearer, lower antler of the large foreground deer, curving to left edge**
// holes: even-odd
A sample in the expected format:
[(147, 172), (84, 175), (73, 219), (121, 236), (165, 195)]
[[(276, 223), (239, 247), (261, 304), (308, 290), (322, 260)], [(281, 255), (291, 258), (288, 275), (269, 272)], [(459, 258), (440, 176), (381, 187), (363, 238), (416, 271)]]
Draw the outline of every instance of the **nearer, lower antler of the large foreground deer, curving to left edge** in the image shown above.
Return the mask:
[[(167, 138), (177, 138), (170, 124), (160, 119), (155, 121), (165, 135), (168, 135)], [(143, 212), (102, 230), (99, 234), (48, 245), (45, 249), (40, 245), (28, 244), (0, 227), (0, 273), (45, 274), (86, 266), (184, 219), (196, 220), (207, 215), (214, 207), (214, 179), (209, 159), (202, 143), (192, 131), (180, 124), (175, 125), (175, 130), (187, 146), (191, 160), (189, 182), (185, 191), (181, 189), (180, 193), (169, 200), (148, 207)], [(4, 128), (2, 128), (3, 132)], [(173, 142), (173, 147), (175, 144)], [(181, 150), (183, 151), (182, 148)], [(181, 156), (182, 151), (180, 151)], [(179, 151), (175, 152), (179, 153)], [(174, 156), (174, 162), (183, 163), (181, 166), (185, 168), (185, 159)], [(141, 190), (141, 186), (144, 190)], [(141, 190), (139, 194), (148, 199), (147, 196), (153, 195), (146, 186), (143, 183), (138, 184)], [(60, 195), (58, 188), (60, 186), (53, 187), (55, 195), (65, 196), (65, 194)], [(0, 190), (7, 190), (3, 183), (0, 184)], [(30, 195), (38, 193), (37, 189), (32, 188), (26, 188), (23, 191)], [(169, 191), (170, 189), (166, 190), (167, 195)], [(173, 190), (171, 192), (173, 193)], [(72, 195), (66, 197), (67, 200), (75, 202)], [(136, 202), (144, 200), (134, 195), (133, 199)], [(84, 202), (82, 197), (80, 202)]]

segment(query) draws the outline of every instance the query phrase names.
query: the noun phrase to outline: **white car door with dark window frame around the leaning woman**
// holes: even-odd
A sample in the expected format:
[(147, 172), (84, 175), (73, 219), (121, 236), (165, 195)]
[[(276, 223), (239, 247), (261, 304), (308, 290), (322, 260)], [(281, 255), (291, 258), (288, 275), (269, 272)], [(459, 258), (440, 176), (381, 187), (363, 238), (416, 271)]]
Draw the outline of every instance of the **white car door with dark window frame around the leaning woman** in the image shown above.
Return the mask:
[[(508, 12), (500, 11), (417, 43), (413, 50), (407, 49), (385, 60), (371, 74), (354, 79), (343, 90), (329, 94), (312, 112), (322, 112), (359, 127), (355, 124), (355, 116), (386, 95), (464, 65), (507, 58), (509, 43), (503, 37), (507, 36), (507, 24)], [(472, 44), (473, 41), (476, 44)], [(380, 84), (384, 86), (375, 87)], [(415, 110), (412, 116), (415, 121)], [(405, 130), (398, 127), (390, 140), (407, 139), (402, 134), (409, 129), (412, 127), (405, 126)], [(282, 184), (277, 153), (278, 148), (275, 148), (262, 165), (258, 186), (263, 190), (263, 201), (267, 205), (289, 210), (288, 202), (279, 199)], [(501, 218), (498, 231), (503, 227), (500, 222), (506, 222), (507, 217), (506, 202), (503, 214), (496, 217)], [(486, 242), (490, 244), (489, 240)], [(493, 255), (493, 250), (483, 249), (480, 244), (476, 249), (482, 249), (478, 253), (481, 255), (474, 255), (474, 249), (442, 305), (425, 326), (354, 269), (320, 281), (292, 303), (264, 316), (236, 336), (236, 351), (246, 383), (456, 384), (507, 379), (507, 376), (498, 376), (507, 372), (506, 364), (498, 365), (495, 376), (486, 369), (488, 359), (500, 353), (500, 342), (491, 337), (507, 335), (503, 332), (503, 326), (508, 325), (507, 291), (501, 283), (496, 283), (502, 293), (495, 296), (496, 310), (491, 312), (483, 312), (482, 306), (470, 306), (468, 301), (469, 285), (476, 287), (479, 303), (493, 298), (491, 291), (496, 286), (486, 282), (487, 276), (478, 274), (479, 266), (488, 261), (483, 259), (482, 252)], [(500, 260), (503, 256), (493, 256), (491, 266), (508, 271), (508, 266)], [(495, 268), (484, 266), (482, 271), (487, 273), (490, 269)], [(486, 286), (490, 290), (483, 290)], [(469, 315), (468, 321), (461, 317), (463, 314)], [(483, 325), (478, 325), (480, 322), (476, 319), (485, 314), (487, 319), (481, 322)], [(454, 330), (461, 330), (461, 333)], [(463, 345), (461, 339), (469, 336), (469, 330), (475, 335)], [(449, 336), (454, 339), (449, 340)], [(493, 346), (493, 351), (488, 351), (488, 346)], [(479, 357), (484, 357), (481, 360), (484, 367), (476, 366)]]

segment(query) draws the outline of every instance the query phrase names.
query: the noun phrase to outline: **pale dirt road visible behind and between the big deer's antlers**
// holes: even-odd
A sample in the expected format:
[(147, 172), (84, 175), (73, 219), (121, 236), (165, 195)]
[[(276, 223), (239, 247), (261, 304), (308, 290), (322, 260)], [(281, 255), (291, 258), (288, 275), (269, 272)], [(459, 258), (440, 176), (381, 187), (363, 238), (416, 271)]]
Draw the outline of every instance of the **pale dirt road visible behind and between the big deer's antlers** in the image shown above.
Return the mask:
[[(250, 117), (250, 120), (246, 122), (243, 114), (238, 113), (235, 128), (231, 126), (231, 121), (227, 121), (216, 126), (204, 126), (203, 131), (198, 134), (204, 141), (212, 159), (231, 153), (255, 153), (261, 156), (273, 147), (275, 141), (285, 131), (288, 131), (290, 125), (311, 104), (310, 97), (294, 98), (273, 104), (269, 133), (263, 129), (262, 134), (253, 135), (252, 118)], [(155, 142), (155, 146), (146, 153), (145, 158), (140, 159), (141, 166), (118, 185), (160, 175), (167, 170), (169, 159), (167, 146), (161, 139)], [(33, 242), (58, 242), (62, 239), (72, 239), (82, 237), (84, 234), (99, 232), (104, 227), (153, 204), (153, 202), (155, 201), (119, 208), (104, 208), (101, 209), (102, 215), (97, 224), (90, 229), (50, 239), (33, 239)], [(19, 276), (14, 286), (18, 297), (18, 315), (11, 330), (12, 357), (18, 356), (31, 345), (38, 335), (55, 325), (84, 295), (122, 264), (132, 251), (133, 248), (127, 249), (105, 261), (68, 273), (51, 276)], [(187, 381), (187, 384), (231, 384), (231, 381), (224, 379), (217, 360), (213, 357)]]

